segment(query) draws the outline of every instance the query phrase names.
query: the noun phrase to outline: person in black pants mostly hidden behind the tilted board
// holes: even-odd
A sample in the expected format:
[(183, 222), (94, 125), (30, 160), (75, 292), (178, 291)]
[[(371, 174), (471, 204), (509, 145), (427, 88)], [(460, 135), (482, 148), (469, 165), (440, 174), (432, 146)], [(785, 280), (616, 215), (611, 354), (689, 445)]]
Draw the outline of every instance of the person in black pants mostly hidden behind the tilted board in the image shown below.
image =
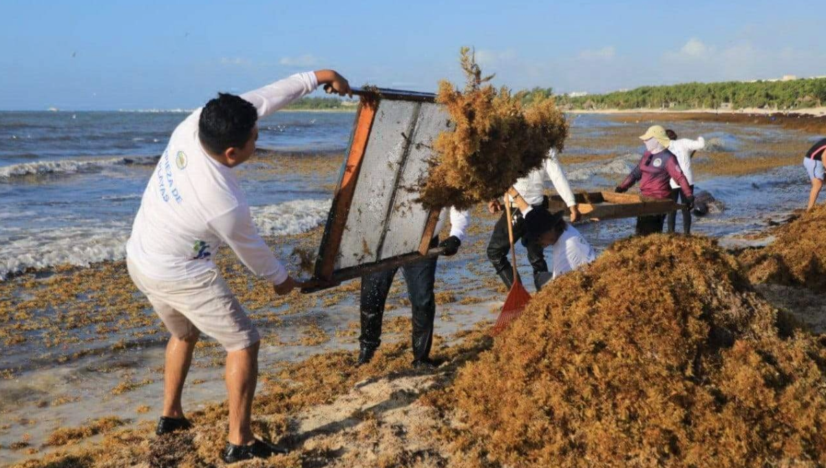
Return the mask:
[[(450, 235), (439, 243), (439, 232), (450, 217)], [(467, 210), (459, 211), (453, 207), (445, 208), (439, 213), (436, 235), (430, 241), (430, 248), (437, 245), (444, 248), (445, 256), (453, 256), (465, 236), (470, 222)], [(413, 314), (413, 362), (416, 369), (432, 370), (439, 362), (430, 358), (430, 346), (433, 343), (433, 323), (436, 317), (436, 298), (434, 284), (436, 281), (437, 258), (425, 258), (407, 263), (401, 267), (407, 283), (407, 295), (411, 301)], [(373, 359), (377, 347), (382, 344), (382, 318), (387, 293), (396, 276), (398, 268), (374, 272), (362, 277), (361, 300), (361, 336), (358, 337), (359, 352), (356, 366), (363, 366)]]

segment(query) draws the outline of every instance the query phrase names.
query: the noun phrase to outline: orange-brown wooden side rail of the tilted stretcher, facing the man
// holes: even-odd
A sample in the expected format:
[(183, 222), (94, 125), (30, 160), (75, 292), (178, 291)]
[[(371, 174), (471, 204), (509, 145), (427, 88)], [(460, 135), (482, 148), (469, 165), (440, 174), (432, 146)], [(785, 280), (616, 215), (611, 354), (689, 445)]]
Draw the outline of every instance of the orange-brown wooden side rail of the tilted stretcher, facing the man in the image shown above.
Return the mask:
[(353, 201), (358, 181), (358, 172), (361, 169), (364, 150), (367, 148), (375, 115), (376, 107), (373, 103), (365, 101), (359, 103), (349, 154), (333, 198), (333, 205), (330, 208), (324, 239), (321, 241), (320, 258), (316, 262), (316, 277), (330, 279), (333, 275), (335, 260), (339, 256), (341, 236), (344, 234), (350, 203)]

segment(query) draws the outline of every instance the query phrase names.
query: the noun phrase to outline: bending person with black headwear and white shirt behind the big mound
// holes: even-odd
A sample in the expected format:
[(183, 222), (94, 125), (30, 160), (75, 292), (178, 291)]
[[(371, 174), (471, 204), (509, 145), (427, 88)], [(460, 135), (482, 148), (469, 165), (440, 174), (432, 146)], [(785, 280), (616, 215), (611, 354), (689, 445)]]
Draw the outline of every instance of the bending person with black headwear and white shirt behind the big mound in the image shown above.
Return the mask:
[[(513, 188), (511, 191), (515, 190)], [(582, 265), (596, 259), (591, 243), (582, 234), (565, 222), (563, 211), (550, 213), (543, 207), (530, 206), (521, 196), (515, 196), (515, 205), (525, 220), (525, 234), (522, 239), (541, 248), (553, 246), (553, 265), (551, 272), (541, 272), (537, 278), (536, 289), (539, 291), (548, 281), (576, 270)]]

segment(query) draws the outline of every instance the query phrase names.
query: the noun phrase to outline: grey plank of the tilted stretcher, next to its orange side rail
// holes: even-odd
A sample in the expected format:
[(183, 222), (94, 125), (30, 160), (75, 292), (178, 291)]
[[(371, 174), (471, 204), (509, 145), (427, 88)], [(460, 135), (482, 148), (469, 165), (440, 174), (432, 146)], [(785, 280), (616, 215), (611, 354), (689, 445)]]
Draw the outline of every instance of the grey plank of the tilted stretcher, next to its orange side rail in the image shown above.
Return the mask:
[[(358, 174), (352, 208), (341, 236), (335, 269), (376, 262), (396, 192), (396, 173), (405, 157), (420, 103), (379, 101)], [(408, 252), (415, 251), (413, 248)]]

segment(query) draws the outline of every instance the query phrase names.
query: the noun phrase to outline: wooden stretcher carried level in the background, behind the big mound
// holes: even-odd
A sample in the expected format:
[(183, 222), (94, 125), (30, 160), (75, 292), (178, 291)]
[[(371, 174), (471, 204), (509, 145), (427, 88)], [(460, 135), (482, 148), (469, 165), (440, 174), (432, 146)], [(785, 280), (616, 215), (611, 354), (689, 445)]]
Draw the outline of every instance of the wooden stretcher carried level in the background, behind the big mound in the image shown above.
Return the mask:
[[(588, 191), (577, 193), (574, 198), (584, 220), (604, 221), (619, 218), (634, 218), (644, 215), (664, 215), (686, 208), (672, 200), (662, 200), (632, 193), (614, 191)], [(548, 210), (566, 210), (563, 198), (549, 196)]]

